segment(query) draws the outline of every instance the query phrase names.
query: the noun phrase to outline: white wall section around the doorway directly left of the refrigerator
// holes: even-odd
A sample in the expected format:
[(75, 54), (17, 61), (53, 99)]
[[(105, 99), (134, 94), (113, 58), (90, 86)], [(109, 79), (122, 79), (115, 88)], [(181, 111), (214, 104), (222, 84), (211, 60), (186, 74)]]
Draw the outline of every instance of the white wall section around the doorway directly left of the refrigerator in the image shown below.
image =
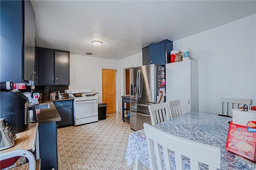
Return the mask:
[(130, 57), (121, 59), (118, 61), (118, 63), (119, 63), (118, 111), (120, 113), (122, 113), (122, 98), (121, 98), (121, 96), (125, 95), (125, 92), (124, 92), (124, 87), (125, 87), (124, 69), (142, 66), (142, 53), (138, 53), (136, 55), (132, 55)]

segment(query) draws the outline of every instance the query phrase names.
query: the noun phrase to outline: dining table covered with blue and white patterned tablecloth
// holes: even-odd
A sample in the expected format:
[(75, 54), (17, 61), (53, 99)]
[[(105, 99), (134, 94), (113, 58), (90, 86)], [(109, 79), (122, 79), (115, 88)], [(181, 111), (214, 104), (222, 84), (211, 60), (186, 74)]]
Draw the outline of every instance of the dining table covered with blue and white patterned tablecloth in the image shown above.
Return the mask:
[[(230, 117), (189, 112), (154, 125), (154, 127), (178, 137), (219, 147), (221, 170), (249, 170), (248, 166), (236, 160), (236, 154), (225, 149), (230, 121), (232, 121)], [(127, 166), (133, 164), (134, 169), (142, 169), (143, 165), (150, 168), (150, 158), (144, 129), (130, 133), (125, 158), (127, 159)], [(170, 154), (170, 159), (172, 169), (175, 170), (173, 154)], [(164, 160), (162, 162), (164, 163)], [(188, 158), (183, 157), (184, 169), (190, 169), (189, 162)], [(208, 166), (202, 163), (199, 163), (199, 167), (200, 169), (208, 169)]]

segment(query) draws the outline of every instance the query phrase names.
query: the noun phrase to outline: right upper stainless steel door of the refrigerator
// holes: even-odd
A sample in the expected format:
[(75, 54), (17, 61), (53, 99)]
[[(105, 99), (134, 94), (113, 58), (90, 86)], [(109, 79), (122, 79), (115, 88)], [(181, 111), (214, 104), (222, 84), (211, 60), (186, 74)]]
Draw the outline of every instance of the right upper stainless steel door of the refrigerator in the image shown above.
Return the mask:
[(156, 103), (156, 65), (150, 64), (140, 67), (139, 74), (140, 101)]

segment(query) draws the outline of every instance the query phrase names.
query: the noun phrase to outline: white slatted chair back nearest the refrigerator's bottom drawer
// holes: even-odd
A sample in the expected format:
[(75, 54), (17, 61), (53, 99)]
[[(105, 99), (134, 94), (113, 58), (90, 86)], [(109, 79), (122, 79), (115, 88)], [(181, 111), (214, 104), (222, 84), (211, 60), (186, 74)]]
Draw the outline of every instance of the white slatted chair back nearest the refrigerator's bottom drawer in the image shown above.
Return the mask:
[(166, 102), (148, 106), (152, 126), (170, 120), (170, 113)]

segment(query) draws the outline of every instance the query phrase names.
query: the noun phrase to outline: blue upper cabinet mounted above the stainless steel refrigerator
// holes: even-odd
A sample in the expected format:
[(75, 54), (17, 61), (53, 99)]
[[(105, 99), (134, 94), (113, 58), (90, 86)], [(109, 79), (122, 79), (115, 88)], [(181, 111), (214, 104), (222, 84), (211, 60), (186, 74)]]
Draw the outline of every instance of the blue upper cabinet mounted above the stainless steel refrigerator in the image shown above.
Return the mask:
[(142, 48), (143, 65), (165, 65), (170, 63), (170, 52), (172, 49), (172, 41), (168, 39)]

